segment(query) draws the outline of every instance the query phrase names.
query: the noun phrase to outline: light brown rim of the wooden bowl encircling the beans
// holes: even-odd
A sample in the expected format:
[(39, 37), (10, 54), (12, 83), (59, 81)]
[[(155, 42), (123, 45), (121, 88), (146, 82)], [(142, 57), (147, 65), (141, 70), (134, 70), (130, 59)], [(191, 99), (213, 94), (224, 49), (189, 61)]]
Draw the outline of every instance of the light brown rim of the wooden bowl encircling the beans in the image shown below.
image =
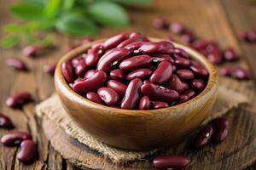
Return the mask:
[[(157, 41), (166, 41), (160, 38), (154, 38), (154, 37), (148, 37), (148, 39), (152, 42), (157, 42)], [(218, 74), (217, 71), (215, 69), (215, 67), (207, 60), (207, 58), (203, 55), (200, 54), (199, 52), (195, 51), (195, 49), (193, 48), (189, 48), (186, 45), (177, 43), (177, 42), (172, 42), (172, 44), (176, 47), (176, 48), (182, 48), (184, 49), (189, 55), (191, 55), (191, 57), (193, 59), (195, 59), (196, 61), (198, 61), (200, 63), (201, 66), (203, 66), (205, 69), (207, 69), (208, 73), (209, 73), (209, 77), (208, 77), (208, 82), (207, 82), (207, 86), (206, 88), (204, 88), (203, 91), (201, 91), (200, 94), (196, 95), (195, 98), (193, 99), (189, 99), (188, 101), (178, 104), (178, 105), (172, 105), (166, 108), (160, 108), (160, 109), (154, 109), (154, 110), (125, 110), (125, 109), (120, 109), (120, 108), (115, 108), (115, 107), (111, 107), (108, 105), (101, 105), (101, 104), (97, 104), (93, 101), (90, 101), (89, 99), (84, 98), (83, 96), (81, 96), (80, 94), (77, 94), (73, 91), (72, 88), (70, 88), (65, 80), (65, 78), (62, 75), (61, 72), (61, 65), (64, 61), (68, 60), (68, 59), (72, 59), (73, 57), (79, 55), (79, 54), (83, 54), (88, 48), (90, 48), (91, 46), (93, 46), (94, 44), (98, 43), (98, 42), (102, 42), (105, 39), (101, 39), (101, 40), (97, 40), (94, 42), (89, 42), (83, 45), (80, 45), (77, 48), (72, 49), (71, 51), (69, 51), (67, 54), (64, 54), (61, 59), (59, 59), (57, 65), (56, 65), (56, 69), (55, 69), (55, 86), (56, 86), (56, 81), (60, 81), (63, 88), (65, 88), (65, 92), (67, 92), (67, 95), (71, 95), (71, 97), (73, 98), (73, 100), (79, 101), (80, 104), (85, 104), (87, 103), (90, 105), (93, 105), (94, 108), (96, 109), (111, 109), (111, 113), (119, 113), (125, 116), (142, 116), (145, 115), (145, 112), (148, 112), (150, 114), (152, 114), (153, 112), (162, 112), (162, 111), (170, 111), (172, 112), (172, 110), (179, 110), (179, 109), (183, 109), (185, 107), (185, 105), (191, 105), (192, 103), (195, 103), (198, 99), (201, 99), (202, 97), (206, 96), (207, 93), (209, 93), (212, 88), (215, 87), (216, 83), (218, 83)], [(197, 57), (195, 57), (197, 56)], [(59, 80), (57, 80), (59, 79)], [(56, 87), (55, 87), (56, 88)]]

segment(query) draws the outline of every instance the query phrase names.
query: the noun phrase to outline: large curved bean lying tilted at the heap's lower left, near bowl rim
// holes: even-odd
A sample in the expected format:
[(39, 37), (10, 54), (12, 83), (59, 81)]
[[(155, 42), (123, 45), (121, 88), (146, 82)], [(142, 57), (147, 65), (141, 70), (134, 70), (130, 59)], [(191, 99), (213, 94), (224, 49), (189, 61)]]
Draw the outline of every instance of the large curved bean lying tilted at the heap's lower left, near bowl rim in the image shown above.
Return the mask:
[(73, 83), (72, 88), (78, 94), (85, 94), (103, 87), (106, 81), (107, 74), (103, 71), (97, 71), (88, 79)]

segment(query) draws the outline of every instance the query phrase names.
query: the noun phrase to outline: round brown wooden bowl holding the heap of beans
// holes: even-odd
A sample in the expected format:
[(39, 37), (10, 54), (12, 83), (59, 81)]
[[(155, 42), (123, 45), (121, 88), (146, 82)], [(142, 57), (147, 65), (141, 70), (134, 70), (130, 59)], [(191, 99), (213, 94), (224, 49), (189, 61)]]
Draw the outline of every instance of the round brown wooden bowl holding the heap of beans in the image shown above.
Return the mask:
[(199, 127), (212, 110), (218, 89), (216, 70), (204, 56), (178, 43), (174, 45), (186, 50), (209, 72), (207, 87), (195, 98), (164, 109), (137, 111), (99, 105), (76, 94), (62, 76), (61, 64), (84, 53), (94, 43), (75, 48), (61, 58), (55, 69), (55, 88), (73, 122), (103, 143), (128, 150), (170, 146)]

